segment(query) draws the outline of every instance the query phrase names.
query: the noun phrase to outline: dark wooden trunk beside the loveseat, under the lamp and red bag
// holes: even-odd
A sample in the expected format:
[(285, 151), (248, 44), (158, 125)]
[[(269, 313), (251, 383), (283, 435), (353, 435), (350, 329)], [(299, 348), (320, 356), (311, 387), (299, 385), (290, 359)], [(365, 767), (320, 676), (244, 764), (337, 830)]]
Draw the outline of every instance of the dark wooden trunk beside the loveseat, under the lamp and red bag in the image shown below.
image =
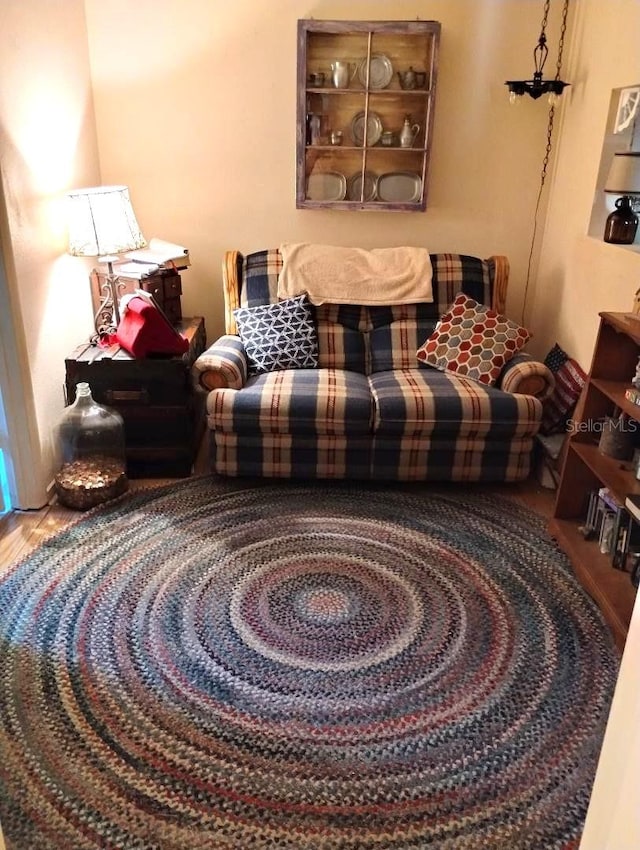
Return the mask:
[(86, 381), (94, 399), (124, 419), (127, 475), (182, 478), (191, 474), (205, 425), (205, 394), (191, 385), (193, 361), (205, 349), (204, 319), (182, 319), (177, 330), (189, 350), (177, 357), (132, 357), (119, 345), (78, 346), (66, 366), (66, 399)]

